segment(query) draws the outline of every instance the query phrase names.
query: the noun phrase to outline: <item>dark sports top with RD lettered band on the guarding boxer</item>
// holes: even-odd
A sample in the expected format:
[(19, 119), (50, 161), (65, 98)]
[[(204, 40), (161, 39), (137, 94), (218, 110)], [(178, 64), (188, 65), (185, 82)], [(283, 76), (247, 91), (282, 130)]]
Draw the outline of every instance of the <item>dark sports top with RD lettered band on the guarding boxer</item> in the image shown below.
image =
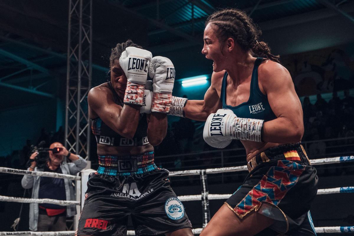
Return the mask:
[[(107, 85), (113, 93), (114, 103), (123, 107), (124, 103), (114, 91), (111, 82), (107, 82)], [(140, 114), (139, 124), (132, 139), (125, 138), (119, 133), (116, 133), (99, 117), (93, 120), (91, 119), (91, 129), (92, 133), (95, 135), (96, 142), (99, 144), (110, 146), (142, 146), (149, 143), (147, 137), (148, 122), (145, 113)]]

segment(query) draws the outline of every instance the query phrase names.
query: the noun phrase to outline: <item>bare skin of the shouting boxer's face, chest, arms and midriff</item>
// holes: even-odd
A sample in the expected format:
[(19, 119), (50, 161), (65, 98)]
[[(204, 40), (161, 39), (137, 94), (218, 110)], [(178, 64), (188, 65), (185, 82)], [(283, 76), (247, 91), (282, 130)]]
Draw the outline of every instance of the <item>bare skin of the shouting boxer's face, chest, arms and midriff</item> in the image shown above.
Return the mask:
[[(211, 86), (206, 91), (204, 100), (187, 101), (184, 114), (189, 119), (205, 121), (209, 114), (222, 108), (220, 96), (225, 71), (228, 72), (226, 104), (237, 106), (248, 101), (256, 57), (251, 52), (242, 50), (232, 38), (221, 44), (210, 23), (204, 30), (202, 53), (207, 59), (214, 61)], [(241, 140), (246, 149), (247, 161), (273, 146), (299, 142), (304, 133), (302, 107), (289, 71), (279, 63), (264, 60), (258, 67), (258, 86), (268, 97), (277, 118), (264, 122), (264, 142)]]

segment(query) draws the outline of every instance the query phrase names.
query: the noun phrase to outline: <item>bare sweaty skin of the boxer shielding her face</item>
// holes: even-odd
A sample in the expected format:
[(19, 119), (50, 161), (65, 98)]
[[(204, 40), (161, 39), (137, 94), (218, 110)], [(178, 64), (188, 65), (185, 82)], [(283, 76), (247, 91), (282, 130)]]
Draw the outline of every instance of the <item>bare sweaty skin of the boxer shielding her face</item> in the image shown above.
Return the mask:
[[(120, 67), (119, 61), (114, 60), (111, 69), (111, 82), (115, 92), (123, 100), (127, 85), (127, 77)], [(114, 103), (114, 94), (107, 83), (90, 90), (89, 117), (98, 116), (111, 129), (126, 138), (132, 138), (136, 132), (139, 121), (140, 107), (137, 105), (124, 105), (121, 107)], [(147, 114), (148, 140), (150, 144), (143, 146), (108, 146), (97, 144), (98, 155), (138, 155), (153, 151), (154, 147), (162, 142), (167, 132), (167, 116), (162, 113)]]

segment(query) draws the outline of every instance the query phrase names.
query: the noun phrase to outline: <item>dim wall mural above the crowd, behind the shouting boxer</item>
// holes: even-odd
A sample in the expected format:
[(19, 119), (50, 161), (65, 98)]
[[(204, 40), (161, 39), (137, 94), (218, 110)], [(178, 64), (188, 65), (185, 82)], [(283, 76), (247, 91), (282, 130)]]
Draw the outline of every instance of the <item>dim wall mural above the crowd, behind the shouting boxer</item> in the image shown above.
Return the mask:
[(354, 52), (347, 46), (282, 56), (299, 97), (354, 88)]

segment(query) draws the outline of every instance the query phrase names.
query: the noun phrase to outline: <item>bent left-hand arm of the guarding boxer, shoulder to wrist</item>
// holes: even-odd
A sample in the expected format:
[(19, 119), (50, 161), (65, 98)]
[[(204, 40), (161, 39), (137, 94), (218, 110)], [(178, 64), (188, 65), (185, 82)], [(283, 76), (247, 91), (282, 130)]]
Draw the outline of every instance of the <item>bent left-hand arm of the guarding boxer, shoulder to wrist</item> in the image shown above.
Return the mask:
[(122, 108), (114, 103), (109, 88), (100, 86), (90, 90), (88, 102), (90, 109), (111, 129), (123, 137), (133, 138), (139, 123), (139, 106), (125, 104)]

